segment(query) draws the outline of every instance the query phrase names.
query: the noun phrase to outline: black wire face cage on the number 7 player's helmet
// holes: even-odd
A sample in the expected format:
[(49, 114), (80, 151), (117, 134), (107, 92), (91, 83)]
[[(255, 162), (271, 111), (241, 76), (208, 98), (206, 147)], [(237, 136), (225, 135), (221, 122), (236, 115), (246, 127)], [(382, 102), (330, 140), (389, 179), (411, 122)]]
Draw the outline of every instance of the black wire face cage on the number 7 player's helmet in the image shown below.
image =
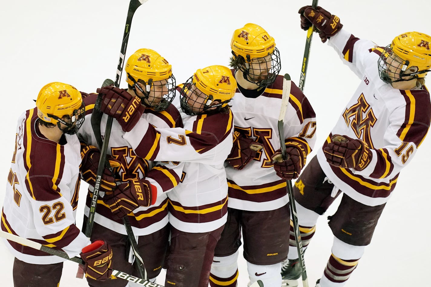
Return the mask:
[[(194, 87), (194, 89), (193, 89)], [(201, 104), (201, 111), (199, 112), (195, 112), (193, 111), (193, 106), (194, 103), (196, 103), (197, 101), (194, 100), (194, 103), (192, 105), (189, 105), (188, 102), (188, 97), (187, 97), (187, 93), (189, 92), (189, 90), (191, 90), (192, 94), (196, 95), (196, 98), (203, 98), (202, 95), (205, 95), (205, 100), (204, 102)], [(200, 93), (197, 93), (197, 91), (199, 91)], [(220, 103), (215, 104), (215, 105), (211, 105), (212, 102), (214, 102), (215, 100), (219, 100), (219, 99), (214, 99), (214, 97), (212, 95), (207, 95), (204, 94), (202, 91), (199, 90), (198, 87), (196, 87), (196, 85), (193, 83), (193, 76), (191, 76), (185, 83), (184, 86), (181, 89), (180, 92), (180, 104), (181, 104), (181, 109), (182, 111), (186, 114), (186, 115), (200, 115), (200, 114), (205, 114), (205, 113), (213, 113), (213, 112), (218, 112), (221, 109), (221, 106), (225, 103), (229, 103), (231, 101), (231, 99), (229, 100), (225, 100), (225, 101), (220, 101)], [(214, 108), (217, 107), (217, 109), (208, 111), (209, 108)]]

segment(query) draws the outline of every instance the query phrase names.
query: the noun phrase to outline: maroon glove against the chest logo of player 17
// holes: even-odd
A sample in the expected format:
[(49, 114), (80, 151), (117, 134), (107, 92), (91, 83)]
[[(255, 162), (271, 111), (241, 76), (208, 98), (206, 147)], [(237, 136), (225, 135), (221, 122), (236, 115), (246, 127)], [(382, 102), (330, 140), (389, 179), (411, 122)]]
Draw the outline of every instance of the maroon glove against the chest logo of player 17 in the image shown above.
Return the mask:
[(226, 159), (235, 169), (243, 169), (247, 163), (251, 162), (256, 156), (256, 152), (262, 149), (262, 144), (253, 139), (234, 131), (234, 145), (231, 153)]

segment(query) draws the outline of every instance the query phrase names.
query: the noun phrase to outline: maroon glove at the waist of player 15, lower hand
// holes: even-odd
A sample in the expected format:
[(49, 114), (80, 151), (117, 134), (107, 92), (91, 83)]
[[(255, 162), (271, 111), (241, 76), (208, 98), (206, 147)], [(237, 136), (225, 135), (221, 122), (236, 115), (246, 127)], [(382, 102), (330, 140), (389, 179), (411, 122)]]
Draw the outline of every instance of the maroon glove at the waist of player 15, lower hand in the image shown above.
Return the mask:
[(370, 148), (362, 140), (335, 134), (323, 150), (330, 165), (361, 171), (372, 159)]

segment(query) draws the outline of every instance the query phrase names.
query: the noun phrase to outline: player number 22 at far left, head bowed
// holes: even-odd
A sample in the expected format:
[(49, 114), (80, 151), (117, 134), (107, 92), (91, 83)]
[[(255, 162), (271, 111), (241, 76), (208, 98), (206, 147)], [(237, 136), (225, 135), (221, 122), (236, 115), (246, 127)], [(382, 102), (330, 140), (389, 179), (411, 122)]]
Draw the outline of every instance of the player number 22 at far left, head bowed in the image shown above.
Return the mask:
[[(36, 107), (22, 113), (7, 178), (1, 215), (3, 231), (78, 254), (88, 278), (106, 280), (112, 251), (106, 242), (90, 244), (75, 226), (80, 183), (79, 140), (84, 122), (81, 93), (69, 84), (53, 82), (39, 92)], [(57, 287), (66, 259), (4, 240), (15, 256), (15, 286)], [(103, 265), (97, 261), (105, 260)]]

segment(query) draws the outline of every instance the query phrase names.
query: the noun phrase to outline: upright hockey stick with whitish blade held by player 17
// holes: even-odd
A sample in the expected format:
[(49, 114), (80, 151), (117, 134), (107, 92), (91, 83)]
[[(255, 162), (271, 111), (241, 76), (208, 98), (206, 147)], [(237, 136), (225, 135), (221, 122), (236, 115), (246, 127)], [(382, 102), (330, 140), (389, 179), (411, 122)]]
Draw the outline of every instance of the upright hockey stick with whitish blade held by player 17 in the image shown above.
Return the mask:
[[(283, 79), (283, 96), (281, 97), (281, 109), (280, 109), (280, 115), (278, 116), (278, 135), (280, 137), (281, 155), (283, 156), (283, 160), (287, 159), (286, 145), (284, 144), (283, 126), (284, 126), (284, 116), (286, 115), (287, 105), (289, 104), (291, 85), (292, 85), (292, 81), (290, 81), (290, 75), (285, 74)], [(298, 250), (298, 256), (300, 257), (299, 264), (301, 266), (302, 284), (303, 284), (303, 287), (308, 287), (307, 271), (305, 269), (305, 261), (304, 261), (304, 251), (302, 249), (302, 240), (301, 240), (301, 234), (299, 232), (295, 198), (294, 198), (294, 193), (292, 188), (292, 182), (290, 180), (286, 181), (286, 188), (287, 188), (287, 194), (289, 195), (289, 205), (290, 205), (290, 212), (292, 214), (292, 221), (294, 223), (294, 233), (295, 233), (295, 241), (296, 241), (297, 250)]]

